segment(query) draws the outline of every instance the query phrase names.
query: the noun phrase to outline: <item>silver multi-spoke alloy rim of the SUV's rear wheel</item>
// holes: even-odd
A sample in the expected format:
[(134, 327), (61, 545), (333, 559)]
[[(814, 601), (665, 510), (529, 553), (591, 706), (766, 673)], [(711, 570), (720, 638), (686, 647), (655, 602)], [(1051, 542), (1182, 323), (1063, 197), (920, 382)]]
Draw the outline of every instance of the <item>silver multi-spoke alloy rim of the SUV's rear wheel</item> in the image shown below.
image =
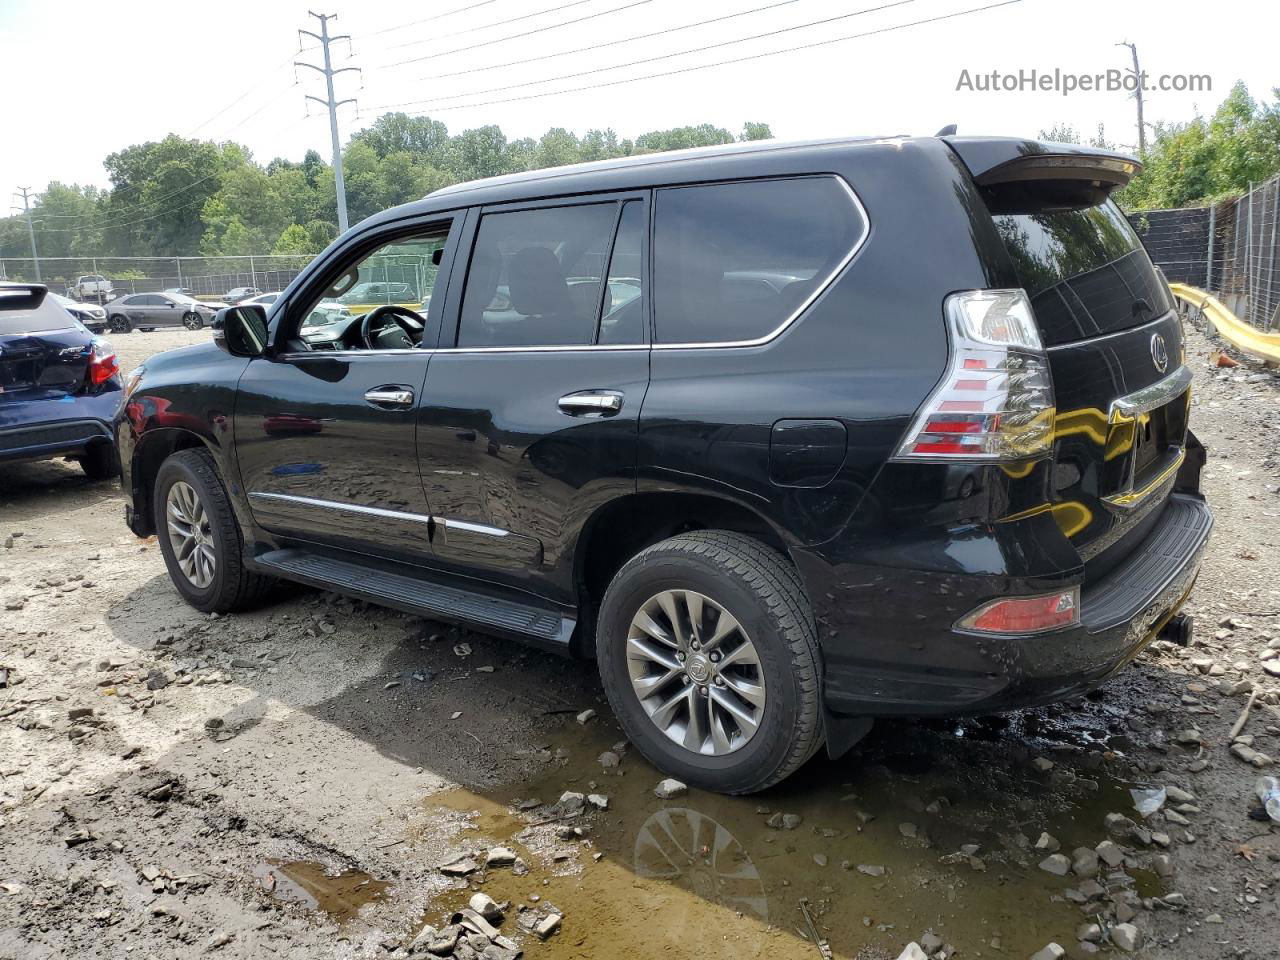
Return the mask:
[(692, 590), (663, 590), (627, 630), (627, 672), (644, 712), (686, 750), (723, 756), (764, 718), (764, 669), (741, 623)]

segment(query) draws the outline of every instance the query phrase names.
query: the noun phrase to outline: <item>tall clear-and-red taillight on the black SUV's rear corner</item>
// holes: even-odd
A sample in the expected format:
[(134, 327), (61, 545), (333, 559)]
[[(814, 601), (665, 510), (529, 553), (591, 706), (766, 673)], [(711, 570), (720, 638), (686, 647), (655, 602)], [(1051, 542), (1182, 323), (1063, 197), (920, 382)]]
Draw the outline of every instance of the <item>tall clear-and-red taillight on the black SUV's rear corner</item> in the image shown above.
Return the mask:
[(897, 451), (909, 460), (1025, 460), (1053, 439), (1053, 381), (1020, 289), (964, 291), (945, 303), (951, 357)]

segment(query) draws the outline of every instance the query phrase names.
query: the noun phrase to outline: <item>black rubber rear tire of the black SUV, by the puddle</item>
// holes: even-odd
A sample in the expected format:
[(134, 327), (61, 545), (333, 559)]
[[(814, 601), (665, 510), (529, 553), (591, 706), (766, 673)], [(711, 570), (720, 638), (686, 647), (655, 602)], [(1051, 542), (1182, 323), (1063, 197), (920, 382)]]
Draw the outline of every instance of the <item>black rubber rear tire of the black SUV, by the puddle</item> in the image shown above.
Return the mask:
[[(667, 608), (660, 603), (664, 591), (676, 591), (677, 599), (687, 598), (689, 594), (681, 591), (691, 591), (704, 620), (701, 631), (690, 631), (686, 626), (684, 639), (689, 643), (680, 663), (673, 659), (678, 653), (653, 640), (654, 634), (636, 635), (657, 645), (654, 649), (667, 658), (659, 667), (645, 657), (634, 655), (636, 646), (631, 643), (631, 631), (632, 618), (641, 609), (653, 611), (659, 626), (664, 623), (669, 628), (671, 618), (663, 613)], [(727, 666), (730, 660), (741, 660), (736, 648), (749, 646), (754, 648), (748, 657), (751, 666), (728, 666), (723, 675), (716, 669), (724, 669), (724, 666), (708, 667), (707, 658), (716, 658), (714, 652), (707, 653), (712, 644), (700, 650), (692, 643), (699, 635), (714, 641), (705, 631), (714, 630), (721, 621), (712, 620), (717, 616), (714, 611), (707, 612), (708, 600), (712, 608), (719, 607), (741, 626), (737, 634), (730, 634), (717, 645), (717, 649), (723, 648), (721, 662)], [(687, 618), (682, 622), (687, 623)], [(663, 540), (632, 557), (604, 594), (596, 657), (604, 692), (627, 739), (655, 767), (691, 786), (722, 794), (764, 790), (799, 769), (822, 745), (822, 660), (813, 611), (795, 568), (777, 550), (750, 536), (703, 530)], [(684, 672), (672, 676), (668, 671), (673, 667)], [(644, 672), (649, 668), (654, 672)], [(649, 687), (659, 692), (650, 692), (643, 703), (641, 694), (632, 686), (634, 669), (644, 672), (636, 682), (645, 685), (659, 676), (672, 678)], [(733, 671), (744, 672), (733, 675)], [(753, 705), (730, 696), (744, 684), (763, 701)], [(759, 696), (759, 686), (763, 686), (763, 696)], [(699, 709), (710, 710), (710, 718), (704, 713), (700, 723), (686, 719), (681, 732), (678, 717), (691, 718), (704, 690), (705, 707)], [(654, 710), (654, 704), (676, 699), (681, 701), (676, 713)], [(733, 714), (722, 705), (726, 699), (754, 717), (750, 732), (749, 727), (737, 726)], [(650, 713), (668, 719), (675, 716), (677, 721), (664, 730)], [(710, 731), (717, 726), (719, 742), (713, 742)], [(730, 727), (736, 730), (726, 736)], [(685, 745), (691, 728), (695, 741), (699, 730), (708, 731), (696, 750)], [(684, 742), (677, 742), (681, 737)]]

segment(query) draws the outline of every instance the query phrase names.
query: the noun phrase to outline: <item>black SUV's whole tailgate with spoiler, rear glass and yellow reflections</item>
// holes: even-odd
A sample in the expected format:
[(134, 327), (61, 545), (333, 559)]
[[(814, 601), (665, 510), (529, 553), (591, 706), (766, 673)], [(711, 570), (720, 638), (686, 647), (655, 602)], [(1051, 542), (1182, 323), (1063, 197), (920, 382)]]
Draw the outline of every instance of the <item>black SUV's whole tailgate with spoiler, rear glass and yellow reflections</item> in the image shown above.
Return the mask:
[(1032, 298), (1057, 404), (1046, 495), (1089, 580), (1156, 524), (1185, 456), (1190, 374), (1172, 296), (1107, 198), (1137, 168), (1056, 145), (952, 147), (979, 184), (1011, 285)]

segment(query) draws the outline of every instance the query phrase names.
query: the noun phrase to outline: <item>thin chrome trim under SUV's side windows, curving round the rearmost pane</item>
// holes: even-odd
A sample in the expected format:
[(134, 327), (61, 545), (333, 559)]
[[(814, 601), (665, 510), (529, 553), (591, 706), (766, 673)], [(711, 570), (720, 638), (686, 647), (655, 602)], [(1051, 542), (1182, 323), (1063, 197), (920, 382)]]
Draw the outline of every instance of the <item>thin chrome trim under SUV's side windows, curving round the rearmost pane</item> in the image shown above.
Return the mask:
[[(823, 293), (826, 293), (836, 278), (842, 274), (854, 259), (861, 252), (863, 247), (867, 246), (867, 239), (872, 233), (872, 220), (870, 215), (867, 212), (867, 207), (859, 198), (854, 188), (849, 186), (849, 182), (844, 177), (835, 173), (818, 173), (818, 174), (797, 174), (795, 177), (756, 177), (745, 180), (716, 180), (708, 183), (689, 183), (680, 187), (655, 187), (654, 195), (657, 196), (663, 189), (691, 189), (701, 186), (722, 186), (727, 183), (768, 183), (773, 180), (809, 180), (809, 179), (829, 179), (835, 180), (845, 193), (849, 195), (850, 202), (854, 205), (854, 210), (858, 211), (858, 216), (861, 219), (861, 233), (858, 239), (854, 241), (852, 247), (841, 259), (836, 266), (832, 268), (831, 273), (823, 278), (813, 292), (805, 297), (805, 300), (794, 310), (791, 314), (778, 324), (773, 330), (764, 334), (763, 337), (756, 337), (750, 340), (709, 340), (709, 342), (687, 342), (687, 343), (561, 343), (561, 344), (545, 344), (535, 347), (434, 347), (429, 349), (412, 348), (412, 349), (315, 349), (306, 352), (289, 352), (278, 355), (280, 360), (293, 360), (296, 357), (314, 357), (314, 356), (332, 356), (332, 357), (358, 357), (358, 356), (385, 356), (385, 355), (431, 355), (431, 353), (573, 353), (579, 351), (639, 351), (639, 349), (722, 349), (731, 347), (762, 347), (765, 343), (771, 343), (781, 337), (800, 316), (813, 306), (814, 301), (818, 300)], [(653, 237), (650, 236), (650, 242)], [(1132, 332), (1130, 332), (1132, 333)]]

